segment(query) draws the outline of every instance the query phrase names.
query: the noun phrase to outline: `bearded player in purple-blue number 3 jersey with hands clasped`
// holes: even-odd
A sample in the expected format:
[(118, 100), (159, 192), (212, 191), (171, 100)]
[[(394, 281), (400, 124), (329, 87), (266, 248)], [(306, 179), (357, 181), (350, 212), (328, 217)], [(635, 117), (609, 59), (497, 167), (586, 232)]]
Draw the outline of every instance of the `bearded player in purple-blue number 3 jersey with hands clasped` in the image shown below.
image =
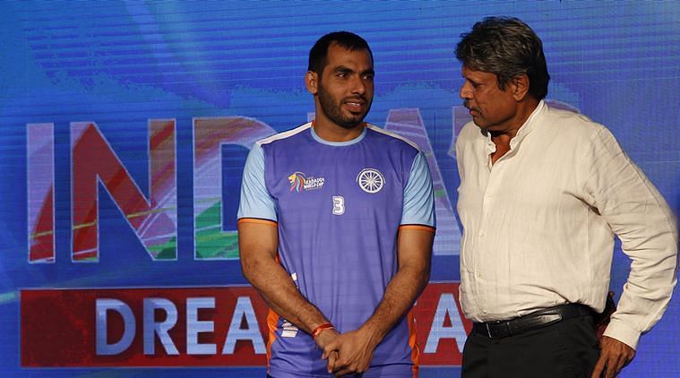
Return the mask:
[(415, 376), (409, 310), (435, 236), (426, 158), (364, 122), (374, 95), (364, 39), (323, 36), (308, 70), (316, 119), (255, 143), (238, 210), (245, 278), (271, 306), (268, 374)]

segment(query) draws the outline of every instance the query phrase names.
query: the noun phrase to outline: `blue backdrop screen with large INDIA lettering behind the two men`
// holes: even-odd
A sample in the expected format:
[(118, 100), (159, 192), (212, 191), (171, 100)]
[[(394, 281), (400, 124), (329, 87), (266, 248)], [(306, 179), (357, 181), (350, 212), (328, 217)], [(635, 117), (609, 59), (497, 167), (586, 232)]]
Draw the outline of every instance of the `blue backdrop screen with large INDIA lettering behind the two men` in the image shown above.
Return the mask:
[[(607, 125), (677, 214), (676, 2), (4, 2), (0, 371), (263, 376), (266, 305), (238, 261), (245, 157), (314, 117), (309, 48), (350, 30), (374, 52), (367, 121), (417, 142), (435, 180), (421, 376), (460, 374), (453, 50), (487, 15), (537, 31), (547, 101)], [(616, 293), (629, 267), (617, 247)], [(623, 375), (679, 376), (678, 324), (673, 300)]]

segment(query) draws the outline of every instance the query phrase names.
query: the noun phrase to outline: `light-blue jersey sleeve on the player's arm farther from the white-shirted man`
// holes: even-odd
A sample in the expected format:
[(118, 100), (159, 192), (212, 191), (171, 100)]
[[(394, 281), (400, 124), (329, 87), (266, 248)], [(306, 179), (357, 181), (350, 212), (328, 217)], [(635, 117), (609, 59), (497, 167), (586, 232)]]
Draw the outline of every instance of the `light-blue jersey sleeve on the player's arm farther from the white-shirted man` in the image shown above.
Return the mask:
[(278, 219), (274, 200), (264, 184), (264, 150), (257, 143), (248, 153), (248, 159), (245, 159), (237, 217)]

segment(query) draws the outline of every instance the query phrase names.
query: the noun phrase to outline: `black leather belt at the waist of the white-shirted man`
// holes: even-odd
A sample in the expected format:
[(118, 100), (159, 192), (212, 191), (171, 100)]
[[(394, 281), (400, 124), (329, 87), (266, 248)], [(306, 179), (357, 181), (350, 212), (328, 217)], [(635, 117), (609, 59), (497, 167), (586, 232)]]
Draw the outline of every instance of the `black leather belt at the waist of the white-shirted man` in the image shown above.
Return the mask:
[(489, 339), (501, 339), (522, 332), (546, 327), (566, 319), (592, 314), (592, 310), (586, 305), (557, 305), (509, 321), (476, 322), (472, 324), (472, 331), (484, 335)]

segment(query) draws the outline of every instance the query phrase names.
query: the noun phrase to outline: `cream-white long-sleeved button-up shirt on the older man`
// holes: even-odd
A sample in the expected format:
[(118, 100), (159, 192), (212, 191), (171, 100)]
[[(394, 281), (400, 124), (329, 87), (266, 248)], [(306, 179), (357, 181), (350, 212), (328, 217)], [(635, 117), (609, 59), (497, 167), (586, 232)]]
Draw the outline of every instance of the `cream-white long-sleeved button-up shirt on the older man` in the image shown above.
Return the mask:
[(633, 263), (605, 334), (636, 348), (676, 285), (672, 211), (586, 116), (541, 101), (510, 146), (492, 165), (495, 144), (471, 122), (456, 143), (466, 316), (508, 320), (564, 303), (601, 312), (616, 235)]

